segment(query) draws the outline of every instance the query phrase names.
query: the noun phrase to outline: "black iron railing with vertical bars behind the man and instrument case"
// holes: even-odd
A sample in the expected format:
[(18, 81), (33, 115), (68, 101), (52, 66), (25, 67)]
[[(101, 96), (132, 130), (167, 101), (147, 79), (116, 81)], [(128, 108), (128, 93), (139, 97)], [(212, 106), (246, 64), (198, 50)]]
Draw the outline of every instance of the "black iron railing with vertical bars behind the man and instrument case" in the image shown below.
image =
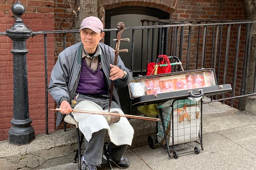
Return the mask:
[[(249, 53), (250, 53), (250, 44), (251, 44), (251, 29), (252, 23), (254, 21), (236, 21), (236, 22), (219, 22), (219, 23), (205, 23), (205, 24), (191, 24), (191, 23), (179, 23), (172, 25), (154, 25), (154, 26), (140, 26), (140, 27), (127, 27), (126, 30), (132, 30), (131, 35), (131, 47), (130, 47), (130, 69), (134, 71), (134, 43), (135, 43), (135, 32), (141, 31), (147, 32), (147, 37), (141, 37), (141, 58), (140, 58), (140, 74), (145, 74), (145, 68), (143, 68), (143, 63), (154, 62), (157, 55), (167, 54), (170, 56), (178, 56), (180, 61), (183, 63), (183, 67), (186, 70), (191, 69), (200, 69), (200, 68), (214, 68), (216, 71), (217, 82), (218, 83), (231, 83), (232, 84), (232, 93), (228, 96), (225, 94), (220, 96), (215, 96), (215, 99), (211, 99), (210, 101), (204, 103), (210, 103), (215, 101), (225, 101), (231, 99), (231, 103), (229, 105), (233, 107), (233, 100), (245, 96), (256, 95), (255, 90), (251, 92), (245, 93), (247, 87), (248, 80), (248, 64), (249, 64)], [(241, 31), (241, 26), (245, 27), (246, 31)], [(212, 29), (209, 31), (209, 27)], [(226, 30), (223, 30), (223, 27)], [(202, 28), (202, 30), (201, 30)], [(234, 38), (234, 33), (231, 32), (231, 28), (236, 28), (236, 38)], [(184, 34), (184, 30), (188, 30), (187, 34)], [(196, 30), (197, 34), (195, 34)], [(116, 32), (117, 29), (104, 29), (104, 32)], [(32, 35), (44, 34), (45, 37), (45, 51), (47, 51), (47, 34), (63, 34), (63, 49), (66, 48), (66, 34), (67, 33), (78, 33), (78, 30), (59, 30), (59, 31), (40, 31), (40, 32), (32, 32)], [(152, 33), (151, 33), (152, 32)], [(155, 33), (158, 33), (157, 39), (150, 38), (155, 37)], [(211, 34), (211, 36), (209, 36)], [(233, 35), (232, 35), (233, 34)], [(191, 38), (191, 36), (196, 36), (196, 38)], [(232, 35), (235, 40), (235, 53), (230, 54), (230, 36)], [(170, 38), (169, 38), (170, 37)], [(186, 38), (187, 37), (187, 38)], [(210, 37), (210, 38), (208, 38)], [(241, 49), (241, 41), (240, 37), (245, 38), (243, 41), (244, 48)], [(196, 53), (191, 54), (191, 40), (197, 40), (196, 44)], [(146, 40), (146, 42), (145, 42)], [(210, 40), (210, 41), (209, 41)], [(169, 42), (168, 42), (169, 41)], [(224, 44), (223, 41), (226, 41)], [(185, 42), (187, 45), (184, 47)], [(143, 43), (146, 43), (146, 55), (143, 54)], [(224, 46), (223, 46), (224, 45)], [(232, 43), (234, 45), (234, 43)], [(153, 49), (157, 46), (157, 52)], [(200, 50), (201, 49), (201, 50)], [(186, 53), (184, 54), (184, 51)], [(244, 53), (241, 53), (244, 51)], [(194, 51), (195, 52), (195, 51)], [(158, 53), (158, 54), (157, 54)], [(238, 69), (238, 59), (241, 58), (238, 55), (243, 55), (243, 70)], [(196, 63), (193, 63), (192, 56), (196, 57)], [(145, 59), (144, 59), (144, 58)], [(228, 62), (229, 58), (234, 57), (235, 60), (233, 64)], [(221, 66), (222, 60), (224, 58), (224, 66)], [(47, 73), (47, 53), (45, 53), (45, 61), (46, 61), (46, 73)], [(186, 64), (185, 64), (186, 63)], [(184, 66), (185, 64), (185, 66)], [(228, 81), (228, 67), (233, 67), (233, 77), (232, 81)], [(223, 70), (224, 69), (224, 70)], [(174, 67), (173, 71), (180, 71)], [(222, 71), (223, 70), (223, 71)], [(236, 89), (236, 77), (237, 72), (240, 71), (241, 80), (241, 89), (240, 91), (235, 91)], [(241, 74), (242, 73), (242, 74)], [(255, 73), (254, 73), (255, 74)], [(47, 76), (47, 74), (46, 74)], [(47, 77), (46, 77), (46, 95), (47, 91)], [(255, 87), (255, 79), (253, 81), (253, 86)], [(255, 88), (253, 88), (255, 89)], [(235, 96), (235, 92), (240, 93), (240, 95)], [(241, 104), (241, 100), (239, 101)], [(47, 98), (46, 98), (47, 103)], [(238, 108), (241, 106), (238, 106)], [(47, 113), (46, 106), (46, 113)], [(47, 114), (46, 114), (47, 115)], [(46, 117), (47, 119), (47, 117)]]

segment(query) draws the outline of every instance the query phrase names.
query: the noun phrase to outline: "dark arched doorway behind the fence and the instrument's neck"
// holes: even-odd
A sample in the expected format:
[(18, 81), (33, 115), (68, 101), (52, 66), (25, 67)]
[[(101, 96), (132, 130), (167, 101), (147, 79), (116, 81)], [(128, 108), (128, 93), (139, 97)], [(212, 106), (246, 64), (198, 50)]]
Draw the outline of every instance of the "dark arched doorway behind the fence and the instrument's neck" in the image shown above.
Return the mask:
[[(106, 16), (105, 16), (105, 28), (106, 29), (113, 29), (116, 28), (118, 22), (124, 22), (126, 28), (127, 27), (139, 27), (142, 26), (141, 19), (169, 19), (170, 14), (165, 13), (161, 10), (155, 9), (155, 8), (146, 8), (146, 7), (139, 7), (139, 6), (124, 6), (120, 8), (114, 8), (111, 10), (106, 10)], [(152, 23), (144, 23), (143, 26), (152, 25)], [(156, 30), (156, 33), (159, 32)], [(116, 38), (116, 32), (105, 32), (105, 38), (104, 43), (109, 45), (110, 47), (115, 48), (115, 42), (113, 39)], [(158, 39), (158, 34), (154, 35), (156, 40)], [(125, 30), (122, 32), (122, 38), (130, 38), (132, 39), (132, 30)], [(151, 41), (152, 41), (152, 38)], [(142, 59), (143, 61), (146, 61), (146, 54), (147, 54), (147, 43), (143, 43), (142, 47), (142, 41), (147, 42), (147, 31), (143, 31), (143, 40), (142, 40), (142, 30), (135, 30), (134, 32), (134, 62), (133, 62), (133, 76), (136, 77), (141, 70), (146, 71), (147, 62), (141, 63)], [(157, 41), (154, 42), (153, 49), (153, 55), (157, 56), (158, 51), (158, 45)], [(125, 66), (128, 69), (131, 69), (131, 42), (121, 42), (120, 49), (128, 49), (128, 53), (119, 53), (122, 61), (124, 62)], [(143, 49), (143, 50), (142, 50)], [(152, 49), (150, 49), (152, 51)], [(126, 88), (119, 87), (118, 94), (122, 106), (122, 110), (125, 114), (135, 114), (139, 115), (139, 111), (137, 111), (136, 108), (130, 107), (130, 102), (128, 99), (128, 94), (126, 93)]]

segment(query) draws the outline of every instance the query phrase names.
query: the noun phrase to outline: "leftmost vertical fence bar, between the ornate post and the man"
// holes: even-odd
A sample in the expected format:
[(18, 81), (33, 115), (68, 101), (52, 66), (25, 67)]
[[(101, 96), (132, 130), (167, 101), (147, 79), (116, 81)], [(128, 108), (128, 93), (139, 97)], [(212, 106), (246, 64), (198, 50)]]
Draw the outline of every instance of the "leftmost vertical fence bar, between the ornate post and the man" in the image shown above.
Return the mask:
[(45, 133), (48, 135), (48, 69), (47, 69), (47, 34), (44, 34), (44, 71), (45, 71)]

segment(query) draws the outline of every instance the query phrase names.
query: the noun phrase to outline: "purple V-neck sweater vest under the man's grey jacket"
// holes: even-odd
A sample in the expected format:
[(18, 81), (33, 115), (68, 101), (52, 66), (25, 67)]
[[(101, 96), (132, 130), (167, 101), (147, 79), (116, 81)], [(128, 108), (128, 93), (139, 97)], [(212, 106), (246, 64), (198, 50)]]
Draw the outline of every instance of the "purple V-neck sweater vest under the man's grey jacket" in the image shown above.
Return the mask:
[(102, 69), (98, 67), (96, 71), (93, 71), (87, 65), (85, 59), (82, 59), (82, 68), (77, 86), (77, 93), (83, 95), (101, 95), (108, 93)]

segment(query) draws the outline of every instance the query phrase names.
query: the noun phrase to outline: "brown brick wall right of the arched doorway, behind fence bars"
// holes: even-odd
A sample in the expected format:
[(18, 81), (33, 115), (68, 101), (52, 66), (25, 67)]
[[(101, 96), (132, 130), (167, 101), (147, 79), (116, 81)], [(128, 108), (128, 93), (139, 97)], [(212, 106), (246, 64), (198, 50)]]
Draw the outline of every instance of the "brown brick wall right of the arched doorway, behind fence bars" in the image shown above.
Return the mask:
[[(173, 20), (186, 20), (186, 21), (220, 21), (220, 20), (244, 20), (245, 14), (243, 11), (243, 1), (237, 0), (236, 2), (230, 2), (228, 0), (181, 0), (178, 6), (178, 10), (171, 14), (171, 19)], [(193, 23), (193, 22), (192, 22)], [(196, 23), (196, 22), (194, 22)], [(202, 22), (197, 22), (202, 23)], [(231, 33), (230, 33), (230, 47), (228, 51), (228, 64), (230, 66), (227, 69), (227, 81), (225, 83), (230, 83), (232, 85), (233, 80), (233, 67), (231, 65), (234, 64), (235, 60), (235, 44), (236, 44), (236, 34), (237, 34), (237, 24), (231, 26)], [(198, 37), (198, 27), (192, 27), (192, 34), (191, 34), (191, 47), (190, 47), (190, 69), (196, 68), (196, 51), (197, 51), (197, 37)], [(215, 36), (216, 36), (216, 29), (215, 27)], [(223, 35), (222, 35), (222, 48), (221, 48), (221, 56), (220, 56), (220, 74), (223, 75), (223, 65), (225, 62), (225, 54), (226, 54), (226, 42), (227, 42), (227, 25), (223, 26)], [(206, 42), (206, 51), (205, 51), (205, 68), (212, 67), (210, 66), (211, 61), (211, 54), (212, 54), (212, 32), (213, 27), (207, 27), (207, 42)], [(203, 33), (204, 28), (201, 27), (201, 34), (199, 42), (199, 51), (202, 51), (203, 45)], [(188, 28), (184, 30), (185, 36), (188, 34)], [(220, 35), (219, 35), (220, 36)], [(215, 37), (214, 37), (215, 41)], [(184, 48), (183, 50), (187, 50), (187, 43), (183, 42)], [(238, 72), (237, 72), (237, 80), (236, 80), (236, 93), (235, 95), (238, 96), (240, 91), (238, 87), (241, 87), (241, 79), (242, 79), (242, 63), (243, 63), (243, 53), (245, 48), (245, 25), (241, 26), (241, 37), (240, 37), (240, 49), (238, 51)], [(215, 50), (215, 49), (214, 49)], [(219, 49), (217, 49), (219, 51)], [(186, 56), (186, 52), (183, 53), (183, 56)], [(202, 53), (199, 54), (199, 57), (202, 56)], [(218, 52), (217, 52), (218, 58)], [(186, 60), (182, 61), (183, 63)], [(197, 65), (198, 68), (201, 68), (201, 61)], [(216, 67), (217, 71), (218, 67)], [(219, 83), (223, 83), (223, 77), (220, 77)], [(225, 97), (230, 97), (231, 93), (228, 93)], [(230, 100), (225, 101), (226, 104), (230, 105)], [(233, 107), (237, 108), (238, 106), (238, 99), (234, 100)]]

